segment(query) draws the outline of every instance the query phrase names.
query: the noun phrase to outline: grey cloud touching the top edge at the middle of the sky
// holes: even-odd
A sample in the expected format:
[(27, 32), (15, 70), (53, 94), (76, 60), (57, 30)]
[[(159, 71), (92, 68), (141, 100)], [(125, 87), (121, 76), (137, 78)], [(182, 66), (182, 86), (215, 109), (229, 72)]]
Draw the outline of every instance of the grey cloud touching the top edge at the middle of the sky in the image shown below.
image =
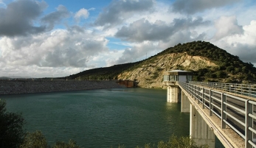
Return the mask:
[(135, 13), (142, 13), (153, 8), (155, 0), (120, 0), (112, 1), (108, 7), (105, 7), (102, 13), (94, 22), (96, 26), (105, 28), (122, 23)]

